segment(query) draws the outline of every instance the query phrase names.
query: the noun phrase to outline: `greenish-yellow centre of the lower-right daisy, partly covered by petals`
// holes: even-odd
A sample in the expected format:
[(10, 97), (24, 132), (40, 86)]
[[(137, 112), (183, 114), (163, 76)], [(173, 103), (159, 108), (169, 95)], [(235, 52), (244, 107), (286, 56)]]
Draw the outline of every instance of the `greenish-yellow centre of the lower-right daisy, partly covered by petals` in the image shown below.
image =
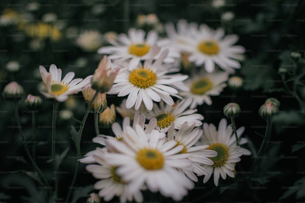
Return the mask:
[(213, 167), (223, 166), (229, 158), (229, 148), (219, 142), (210, 145), (206, 149), (217, 152), (217, 156), (210, 158), (214, 162)]

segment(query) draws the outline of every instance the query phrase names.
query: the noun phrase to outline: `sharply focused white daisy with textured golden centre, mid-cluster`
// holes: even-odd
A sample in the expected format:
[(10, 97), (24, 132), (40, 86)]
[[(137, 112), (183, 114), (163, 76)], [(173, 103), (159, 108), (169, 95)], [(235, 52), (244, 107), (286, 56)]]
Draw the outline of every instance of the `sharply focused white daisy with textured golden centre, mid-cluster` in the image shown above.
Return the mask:
[[(153, 49), (152, 56), (160, 52), (158, 46), (153, 47)], [(175, 88), (179, 89), (178, 84), (181, 85), (182, 81), (188, 78), (188, 75), (167, 74), (171, 73), (172, 69), (165, 69), (161, 66), (167, 55), (168, 50), (164, 50), (156, 61), (152, 62), (152, 58), (145, 60), (143, 66), (140, 65), (138, 68), (129, 69), (118, 75), (114, 81), (115, 84), (107, 94), (128, 95), (127, 109), (135, 106), (135, 110), (138, 110), (143, 101), (145, 107), (152, 110), (152, 100), (156, 102), (163, 100), (165, 103), (173, 105), (174, 100), (171, 96), (181, 98), (177, 95), (178, 91)], [(182, 84), (180, 89), (185, 88)]]

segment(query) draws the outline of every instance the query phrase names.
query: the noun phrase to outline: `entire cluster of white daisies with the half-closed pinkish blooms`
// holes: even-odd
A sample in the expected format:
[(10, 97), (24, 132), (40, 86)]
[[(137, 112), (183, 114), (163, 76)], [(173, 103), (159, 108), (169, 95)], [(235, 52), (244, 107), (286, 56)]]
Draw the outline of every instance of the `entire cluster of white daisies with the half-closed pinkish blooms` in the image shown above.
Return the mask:
[[(93, 138), (102, 147), (79, 160), (90, 164), (86, 170), (101, 179), (94, 187), (105, 201), (119, 196), (122, 202), (142, 202), (145, 190), (180, 201), (198, 176), (204, 175), (206, 183), (213, 175), (217, 186), (220, 176), (234, 177), (240, 156), (251, 154), (239, 146), (246, 138), (240, 138), (237, 146), (226, 119), (217, 130), (203, 124), (196, 109), (203, 103), (211, 105), (210, 96), (219, 95), (234, 68), (240, 68), (243, 47), (233, 45), (238, 37), (224, 37), (222, 28), (183, 21), (177, 28), (168, 23), (168, 37), (162, 39), (154, 30), (146, 34), (135, 28), (128, 35), (109, 38), (111, 45), (98, 49), (109, 55), (84, 80), (72, 80), (73, 72), (61, 79), (55, 65), (49, 72), (40, 67), (42, 94), (62, 102), (82, 91), (86, 106), (91, 104), (91, 110), (100, 113), (103, 124), (112, 124), (115, 137)], [(180, 73), (183, 60), (198, 69), (190, 77)], [(106, 94), (127, 97), (117, 107), (122, 127), (113, 123), (115, 107), (107, 107)], [(97, 97), (91, 102), (93, 95)], [(238, 138), (243, 131), (244, 127), (237, 130)]]

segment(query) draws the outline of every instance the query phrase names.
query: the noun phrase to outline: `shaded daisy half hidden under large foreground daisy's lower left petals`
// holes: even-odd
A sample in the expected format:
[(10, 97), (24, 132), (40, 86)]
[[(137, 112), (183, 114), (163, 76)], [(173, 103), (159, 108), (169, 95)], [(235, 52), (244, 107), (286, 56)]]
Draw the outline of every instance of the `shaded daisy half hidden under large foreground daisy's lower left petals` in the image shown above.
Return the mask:
[(128, 187), (128, 182), (124, 181), (120, 174), (118, 174), (118, 167), (107, 163), (104, 157), (107, 153), (102, 149), (97, 148), (96, 154), (93, 155), (95, 163), (86, 166), (86, 170), (92, 173), (93, 177), (99, 180), (94, 184), (94, 188), (99, 191), (99, 196), (104, 198), (104, 201), (110, 201), (114, 196), (119, 196), (121, 202), (143, 201), (143, 196), (140, 190), (131, 192)]

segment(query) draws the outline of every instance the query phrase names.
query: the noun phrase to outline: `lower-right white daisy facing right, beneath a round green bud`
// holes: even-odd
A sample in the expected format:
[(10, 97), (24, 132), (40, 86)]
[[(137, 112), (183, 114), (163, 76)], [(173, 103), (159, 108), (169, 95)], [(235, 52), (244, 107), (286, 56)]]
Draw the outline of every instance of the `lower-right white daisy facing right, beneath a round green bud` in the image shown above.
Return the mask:
[[(237, 136), (240, 137), (245, 130), (245, 127), (237, 129)], [(241, 138), (239, 145), (243, 145), (247, 142), (246, 138)], [(239, 162), (239, 158), (242, 155), (250, 155), (251, 152), (248, 149), (236, 146), (235, 135), (231, 126), (227, 126), (227, 120), (221, 119), (218, 126), (218, 131), (213, 124), (203, 124), (203, 135), (198, 145), (209, 145), (210, 150), (217, 152), (217, 156), (210, 158), (214, 164), (213, 166), (203, 167), (207, 170), (209, 175), (206, 175), (203, 179), (203, 183), (206, 183), (212, 174), (214, 174), (214, 184), (217, 186), (219, 177), (226, 179), (227, 175), (234, 178), (234, 166)]]

